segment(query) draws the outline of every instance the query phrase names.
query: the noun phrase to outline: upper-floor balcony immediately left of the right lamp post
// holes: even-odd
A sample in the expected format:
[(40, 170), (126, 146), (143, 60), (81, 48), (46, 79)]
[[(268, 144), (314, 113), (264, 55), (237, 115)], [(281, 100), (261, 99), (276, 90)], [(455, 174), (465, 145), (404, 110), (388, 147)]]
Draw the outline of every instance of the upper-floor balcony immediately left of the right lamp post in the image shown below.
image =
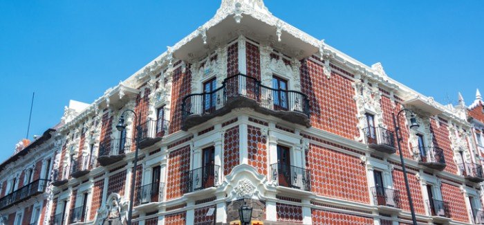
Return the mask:
[(366, 144), (373, 150), (387, 154), (394, 154), (395, 135), (383, 127), (366, 127), (363, 129)]

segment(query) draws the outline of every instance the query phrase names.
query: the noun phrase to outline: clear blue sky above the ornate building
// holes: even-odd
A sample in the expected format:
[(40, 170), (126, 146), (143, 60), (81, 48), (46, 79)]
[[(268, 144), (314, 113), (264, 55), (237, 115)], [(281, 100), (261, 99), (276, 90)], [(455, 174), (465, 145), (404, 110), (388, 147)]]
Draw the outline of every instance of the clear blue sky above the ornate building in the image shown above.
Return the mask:
[[(441, 103), (484, 93), (484, 1), (266, 0), (275, 16)], [(210, 19), (212, 1), (0, 0), (0, 161)]]

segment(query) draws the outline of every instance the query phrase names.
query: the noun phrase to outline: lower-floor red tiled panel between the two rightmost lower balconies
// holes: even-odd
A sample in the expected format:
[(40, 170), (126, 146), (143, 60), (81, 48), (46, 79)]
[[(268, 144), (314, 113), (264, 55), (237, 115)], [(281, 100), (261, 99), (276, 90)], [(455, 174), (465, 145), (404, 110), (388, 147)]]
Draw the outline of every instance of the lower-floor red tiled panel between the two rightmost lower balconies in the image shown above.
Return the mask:
[(467, 207), (465, 206), (465, 199), (459, 187), (442, 183), (440, 186), (442, 197), (444, 201), (449, 203), (449, 213), (452, 219), (461, 222), (468, 222)]

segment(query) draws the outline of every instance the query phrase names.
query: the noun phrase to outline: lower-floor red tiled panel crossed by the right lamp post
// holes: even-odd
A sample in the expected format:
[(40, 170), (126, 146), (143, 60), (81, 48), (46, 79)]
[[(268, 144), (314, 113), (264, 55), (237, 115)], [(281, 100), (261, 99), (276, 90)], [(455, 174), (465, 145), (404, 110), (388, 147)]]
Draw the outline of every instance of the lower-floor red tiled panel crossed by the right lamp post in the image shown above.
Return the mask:
[[(400, 192), (400, 208), (410, 212), (409, 199), (407, 198), (407, 189), (405, 188), (405, 181), (402, 170), (394, 169), (392, 172), (393, 187)], [(413, 201), (413, 208), (418, 214), (425, 214), (425, 205), (422, 197), (422, 188), (415, 174), (407, 170), (407, 177), (409, 179), (411, 198)]]

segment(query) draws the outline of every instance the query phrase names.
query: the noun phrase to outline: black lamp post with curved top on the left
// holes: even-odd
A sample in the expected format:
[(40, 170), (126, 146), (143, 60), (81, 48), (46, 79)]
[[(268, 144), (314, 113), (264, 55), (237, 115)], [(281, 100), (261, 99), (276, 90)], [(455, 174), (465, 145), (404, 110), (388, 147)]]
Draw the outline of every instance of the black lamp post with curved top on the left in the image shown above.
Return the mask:
[[(126, 129), (126, 125), (124, 125), (124, 114), (128, 111), (134, 114), (135, 127), (136, 127), (136, 150), (134, 153), (133, 169), (131, 170), (131, 192), (129, 192), (129, 209), (128, 209), (128, 225), (131, 225), (131, 218), (133, 217), (134, 186), (136, 185), (135, 183), (136, 167), (138, 166), (138, 146), (140, 144), (140, 137), (141, 137), (141, 127), (140, 127), (141, 118), (138, 118), (138, 116), (136, 115), (136, 112), (131, 109), (124, 110), (120, 116), (118, 125), (116, 125), (116, 129), (118, 129), (118, 131), (121, 132), (124, 129)], [(138, 123), (136, 123), (136, 120), (138, 120)]]

